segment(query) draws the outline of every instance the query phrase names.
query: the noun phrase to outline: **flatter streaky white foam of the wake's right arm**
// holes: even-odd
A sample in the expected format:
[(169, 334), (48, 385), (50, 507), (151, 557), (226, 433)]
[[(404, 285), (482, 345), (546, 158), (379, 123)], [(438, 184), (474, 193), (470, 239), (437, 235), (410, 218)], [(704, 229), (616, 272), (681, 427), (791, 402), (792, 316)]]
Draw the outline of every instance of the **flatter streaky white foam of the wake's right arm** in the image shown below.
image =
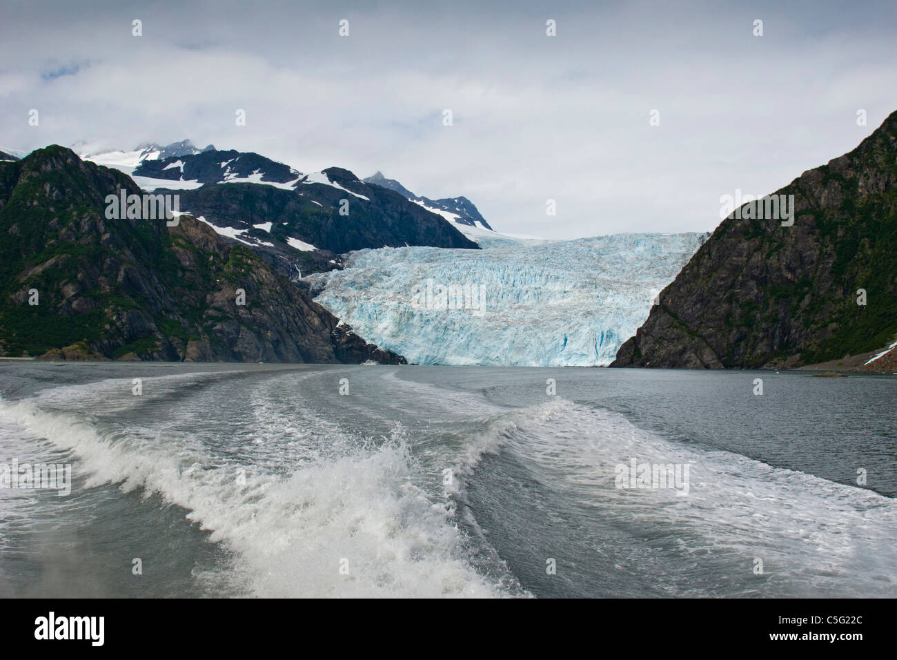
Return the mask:
[[(505, 445), (556, 475), (596, 515), (688, 535), (695, 556), (720, 549), (745, 570), (761, 557), (788, 594), (897, 595), (897, 501), (872, 490), (784, 470), (736, 453), (682, 444), (609, 410), (569, 401)], [(617, 488), (615, 467), (690, 464), (675, 488)], [(701, 540), (701, 541), (697, 541)]]

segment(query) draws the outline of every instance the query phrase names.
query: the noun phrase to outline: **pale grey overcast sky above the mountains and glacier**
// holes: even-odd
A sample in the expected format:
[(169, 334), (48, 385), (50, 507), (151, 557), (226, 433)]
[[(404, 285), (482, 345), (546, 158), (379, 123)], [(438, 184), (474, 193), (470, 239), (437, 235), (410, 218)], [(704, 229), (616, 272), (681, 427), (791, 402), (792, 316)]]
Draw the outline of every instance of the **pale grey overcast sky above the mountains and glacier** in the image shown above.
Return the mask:
[(184, 4), (4, 0), (0, 148), (188, 137), (577, 238), (712, 230), (897, 110), (893, 0)]

